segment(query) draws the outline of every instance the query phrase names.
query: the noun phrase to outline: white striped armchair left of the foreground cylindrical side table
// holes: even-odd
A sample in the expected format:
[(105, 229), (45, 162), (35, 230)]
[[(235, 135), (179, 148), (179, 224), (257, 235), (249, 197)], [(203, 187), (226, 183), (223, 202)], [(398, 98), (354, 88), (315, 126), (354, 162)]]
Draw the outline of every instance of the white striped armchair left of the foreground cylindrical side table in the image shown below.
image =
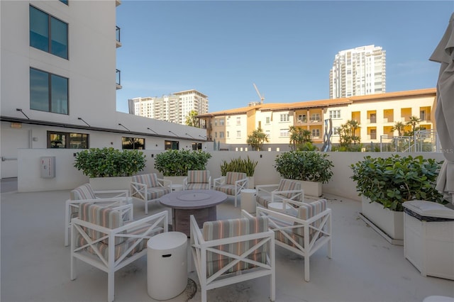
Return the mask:
[[(76, 279), (76, 259), (107, 273), (107, 300), (114, 301), (114, 276), (118, 269), (143, 257), (147, 242), (158, 233), (167, 232), (167, 211), (128, 220), (131, 205), (103, 208), (95, 203), (81, 203), (79, 217), (71, 227), (71, 280)], [(126, 218), (126, 219), (125, 219)]]

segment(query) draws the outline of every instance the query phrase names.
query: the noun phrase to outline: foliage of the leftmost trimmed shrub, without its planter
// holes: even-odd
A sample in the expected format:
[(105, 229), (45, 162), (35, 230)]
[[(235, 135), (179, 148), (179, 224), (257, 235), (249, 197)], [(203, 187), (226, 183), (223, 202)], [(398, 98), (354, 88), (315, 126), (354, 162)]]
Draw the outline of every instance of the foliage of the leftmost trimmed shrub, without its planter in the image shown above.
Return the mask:
[(138, 150), (114, 147), (77, 152), (74, 167), (87, 177), (130, 177), (145, 168), (145, 155)]

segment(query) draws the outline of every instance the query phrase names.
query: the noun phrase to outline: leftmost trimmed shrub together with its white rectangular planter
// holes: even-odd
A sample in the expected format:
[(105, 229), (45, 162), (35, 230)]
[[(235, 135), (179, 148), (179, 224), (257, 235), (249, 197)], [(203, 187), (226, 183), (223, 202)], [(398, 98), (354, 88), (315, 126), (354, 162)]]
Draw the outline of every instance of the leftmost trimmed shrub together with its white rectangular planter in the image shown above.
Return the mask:
[(145, 162), (141, 151), (104, 147), (77, 152), (74, 167), (89, 177), (94, 190), (129, 189), (131, 176), (142, 171)]

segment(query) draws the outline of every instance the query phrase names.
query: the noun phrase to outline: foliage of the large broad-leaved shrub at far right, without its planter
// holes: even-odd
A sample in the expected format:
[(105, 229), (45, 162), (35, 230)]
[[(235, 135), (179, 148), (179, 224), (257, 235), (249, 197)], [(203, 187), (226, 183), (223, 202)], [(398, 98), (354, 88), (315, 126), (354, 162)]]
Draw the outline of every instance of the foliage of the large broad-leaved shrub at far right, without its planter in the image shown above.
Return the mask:
[(436, 189), (441, 162), (417, 157), (372, 158), (352, 164), (356, 190), (370, 201), (381, 203), (392, 211), (404, 211), (402, 203), (410, 200), (443, 202), (443, 195)]

